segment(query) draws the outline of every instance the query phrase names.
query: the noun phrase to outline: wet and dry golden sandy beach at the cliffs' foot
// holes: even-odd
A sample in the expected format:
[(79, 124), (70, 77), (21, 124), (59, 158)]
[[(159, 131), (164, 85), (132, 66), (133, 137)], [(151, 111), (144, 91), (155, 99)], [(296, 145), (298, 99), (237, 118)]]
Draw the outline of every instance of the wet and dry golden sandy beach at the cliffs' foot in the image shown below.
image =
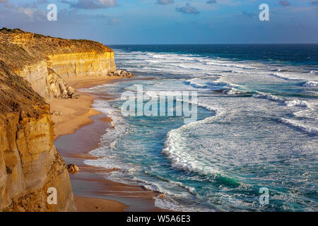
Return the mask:
[[(90, 88), (96, 85), (112, 83), (118, 77), (83, 77), (68, 78), (66, 82), (73, 88)], [(136, 78), (123, 78), (136, 79)], [(51, 102), (51, 112), (61, 111), (61, 116), (52, 115), (54, 121), (54, 144), (64, 158), (66, 165), (76, 164), (80, 171), (70, 174), (71, 184), (78, 211), (163, 211), (155, 207), (154, 196), (159, 194), (132, 186), (112, 182), (103, 177), (117, 169), (91, 167), (83, 163), (95, 159), (88, 152), (98, 148), (100, 136), (106, 129), (111, 129), (112, 119), (91, 109), (95, 99), (111, 99), (111, 94), (104, 96), (79, 92), (78, 99), (57, 100)]]

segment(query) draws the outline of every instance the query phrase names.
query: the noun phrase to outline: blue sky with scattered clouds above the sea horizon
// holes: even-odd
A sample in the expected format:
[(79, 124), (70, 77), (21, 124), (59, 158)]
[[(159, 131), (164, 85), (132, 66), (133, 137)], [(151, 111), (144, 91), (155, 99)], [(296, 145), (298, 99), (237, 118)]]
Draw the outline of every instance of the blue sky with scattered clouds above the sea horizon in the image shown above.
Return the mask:
[(0, 27), (103, 44), (318, 43), (318, 1), (0, 0)]

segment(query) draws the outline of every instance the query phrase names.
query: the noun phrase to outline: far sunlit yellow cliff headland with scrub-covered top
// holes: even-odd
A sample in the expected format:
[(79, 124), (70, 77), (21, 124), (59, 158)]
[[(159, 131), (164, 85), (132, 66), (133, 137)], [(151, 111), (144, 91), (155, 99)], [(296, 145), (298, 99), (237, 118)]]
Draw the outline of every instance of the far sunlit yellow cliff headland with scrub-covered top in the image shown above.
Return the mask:
[(0, 43), (0, 59), (6, 61), (8, 69), (29, 81), (47, 102), (52, 97), (78, 96), (63, 78), (107, 76), (116, 71), (114, 52), (99, 42), (2, 29)]

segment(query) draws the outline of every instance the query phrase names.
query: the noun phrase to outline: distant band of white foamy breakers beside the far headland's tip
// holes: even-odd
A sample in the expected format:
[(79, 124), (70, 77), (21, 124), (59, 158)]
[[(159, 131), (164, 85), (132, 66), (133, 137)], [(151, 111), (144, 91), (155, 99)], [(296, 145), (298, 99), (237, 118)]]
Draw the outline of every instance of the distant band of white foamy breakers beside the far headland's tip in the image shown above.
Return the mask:
[[(264, 66), (258, 66), (249, 62), (235, 64), (227, 59), (200, 57), (191, 54), (173, 54), (173, 53), (155, 53), (155, 52), (116, 52), (117, 60), (124, 61), (127, 65), (126, 70), (134, 71), (134, 68), (140, 72), (152, 73), (160, 72), (167, 74), (189, 74), (196, 76), (223, 71), (231, 73), (231, 69), (239, 71), (251, 71)], [(127, 61), (128, 59), (128, 61)], [(242, 71), (242, 73), (244, 73)]]

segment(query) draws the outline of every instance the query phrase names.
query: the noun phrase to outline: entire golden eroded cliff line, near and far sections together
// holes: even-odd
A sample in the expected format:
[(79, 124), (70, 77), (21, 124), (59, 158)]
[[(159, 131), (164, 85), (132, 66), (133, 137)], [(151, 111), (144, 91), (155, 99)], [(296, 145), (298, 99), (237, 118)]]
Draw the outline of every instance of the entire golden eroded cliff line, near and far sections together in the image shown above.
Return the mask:
[[(112, 49), (98, 42), (0, 31), (0, 211), (76, 210), (48, 102), (76, 97), (64, 76), (115, 70)], [(57, 204), (47, 202), (51, 187)]]

